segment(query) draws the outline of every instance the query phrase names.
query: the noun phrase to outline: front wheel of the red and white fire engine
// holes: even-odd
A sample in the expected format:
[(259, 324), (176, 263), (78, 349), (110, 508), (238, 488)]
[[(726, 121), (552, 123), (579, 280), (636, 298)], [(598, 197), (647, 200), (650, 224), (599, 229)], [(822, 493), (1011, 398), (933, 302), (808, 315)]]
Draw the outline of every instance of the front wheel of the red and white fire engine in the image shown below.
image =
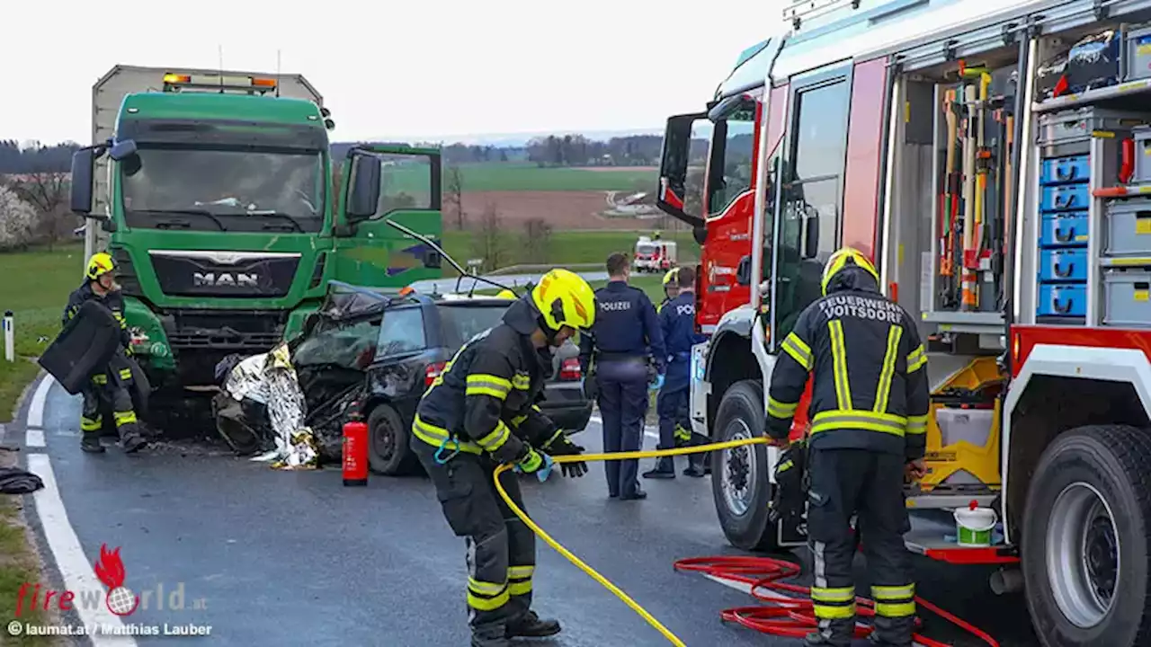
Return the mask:
[[(763, 434), (763, 387), (744, 380), (727, 389), (716, 412), (716, 441)], [(778, 550), (776, 527), (768, 520), (771, 484), (768, 451), (753, 444), (711, 452), (711, 494), (727, 541), (744, 550)]]

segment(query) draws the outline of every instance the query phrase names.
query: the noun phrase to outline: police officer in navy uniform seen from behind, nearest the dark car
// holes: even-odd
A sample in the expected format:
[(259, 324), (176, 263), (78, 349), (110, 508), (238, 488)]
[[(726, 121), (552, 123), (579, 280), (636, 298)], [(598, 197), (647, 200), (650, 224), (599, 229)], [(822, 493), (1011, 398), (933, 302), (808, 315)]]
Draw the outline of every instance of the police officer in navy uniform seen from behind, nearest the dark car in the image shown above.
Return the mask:
[[(608, 284), (595, 291), (600, 315), (593, 328), (594, 343), (588, 335), (581, 335), (580, 366), (586, 375), (594, 350), (603, 450), (639, 451), (648, 387), (657, 390), (662, 386), (666, 352), (651, 299), (643, 290), (627, 284), (631, 275), (627, 256), (613, 253), (608, 257), (607, 266)], [(608, 460), (604, 471), (608, 496), (647, 498), (637, 479), (639, 460)]]

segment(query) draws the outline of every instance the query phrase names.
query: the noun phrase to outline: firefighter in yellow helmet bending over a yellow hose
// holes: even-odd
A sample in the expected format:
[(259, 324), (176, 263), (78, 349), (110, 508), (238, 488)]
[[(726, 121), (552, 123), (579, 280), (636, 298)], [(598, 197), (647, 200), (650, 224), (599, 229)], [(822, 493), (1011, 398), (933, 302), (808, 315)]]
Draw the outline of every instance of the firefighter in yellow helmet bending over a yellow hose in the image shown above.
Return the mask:
[[(559, 632), (532, 609), (535, 536), (503, 503), (491, 472), (512, 463), (541, 480), (549, 455), (584, 451), (535, 405), (551, 374), (552, 351), (595, 324), (587, 281), (566, 269), (543, 275), (512, 303), (503, 322), (473, 337), (432, 382), (416, 410), (411, 447), (427, 470), (451, 530), (467, 545), (467, 609), (473, 647), (508, 647), (518, 637)], [(581, 477), (584, 463), (564, 463)], [(501, 484), (520, 509), (514, 473)]]

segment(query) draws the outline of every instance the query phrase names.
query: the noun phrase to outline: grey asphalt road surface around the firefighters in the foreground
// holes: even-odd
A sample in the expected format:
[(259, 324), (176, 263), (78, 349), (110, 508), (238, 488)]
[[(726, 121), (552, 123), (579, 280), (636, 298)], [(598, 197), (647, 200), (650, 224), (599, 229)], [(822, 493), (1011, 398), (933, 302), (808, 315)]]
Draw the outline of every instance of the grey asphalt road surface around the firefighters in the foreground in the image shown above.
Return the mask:
[[(92, 563), (107, 543), (121, 547), (123, 585), (148, 595), (123, 621), (128, 624), (211, 625), (209, 638), (190, 640), (222, 645), (467, 645), (463, 542), (449, 531), (426, 479), (373, 477), (366, 488), (345, 488), (334, 470), (281, 472), (220, 451), (171, 446), (136, 456), (114, 447), (102, 456), (84, 455), (78, 401), (56, 385), (38, 391), (20, 417), (28, 433), (13, 425), (7, 440), (25, 446), (25, 465), (47, 482), (29, 511), (51, 557), (55, 588), (102, 592)], [(596, 450), (599, 435), (593, 421), (577, 437)], [(646, 447), (654, 444), (649, 435)], [(719, 531), (709, 479), (645, 482), (649, 497), (641, 502), (608, 500), (599, 465), (580, 480), (557, 473), (546, 484), (524, 482), (528, 511), (548, 532), (687, 645), (799, 644), (724, 624), (722, 609), (752, 599), (672, 570), (681, 557), (738, 553)], [(535, 607), (565, 627), (550, 645), (666, 645), (542, 542), (538, 556)], [(792, 558), (806, 562), (806, 551)], [(920, 593), (929, 600), (984, 627), (1005, 647), (1036, 644), (1021, 597), (990, 593), (990, 569), (928, 561), (918, 561), (917, 569)], [(160, 586), (170, 607), (181, 585), (183, 609), (157, 608)], [(114, 622), (101, 607), (66, 619)], [(984, 644), (944, 621), (928, 623), (938, 639)], [(155, 640), (138, 635), (135, 642)]]

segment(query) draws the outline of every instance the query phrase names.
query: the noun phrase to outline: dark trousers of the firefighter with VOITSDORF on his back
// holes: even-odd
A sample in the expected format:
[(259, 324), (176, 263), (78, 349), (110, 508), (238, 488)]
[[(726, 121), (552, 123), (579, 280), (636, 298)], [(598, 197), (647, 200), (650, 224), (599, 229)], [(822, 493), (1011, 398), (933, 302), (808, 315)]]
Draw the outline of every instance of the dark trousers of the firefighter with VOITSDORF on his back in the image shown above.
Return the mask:
[[(875, 634), (882, 645), (910, 647), (915, 584), (904, 533), (910, 530), (904, 498), (902, 456), (863, 449), (813, 448), (808, 458), (807, 532), (815, 583), (811, 602), (823, 644), (847, 647), (855, 629), (852, 562), (862, 542), (875, 600)], [(856, 538), (851, 519), (856, 517)], [(861, 541), (857, 541), (861, 540)]]

